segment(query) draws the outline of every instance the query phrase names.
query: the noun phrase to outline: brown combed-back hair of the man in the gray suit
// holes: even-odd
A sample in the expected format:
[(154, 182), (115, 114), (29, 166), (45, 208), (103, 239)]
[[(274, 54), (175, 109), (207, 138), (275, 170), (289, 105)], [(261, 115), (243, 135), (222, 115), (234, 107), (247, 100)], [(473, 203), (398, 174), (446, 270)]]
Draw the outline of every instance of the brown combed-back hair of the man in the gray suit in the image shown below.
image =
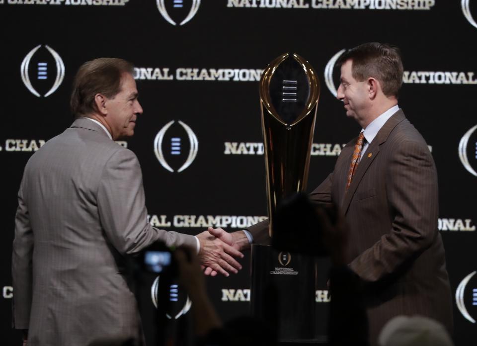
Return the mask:
[(114, 98), (121, 91), (123, 73), (133, 74), (133, 65), (118, 58), (98, 58), (85, 62), (79, 68), (70, 106), (75, 118), (97, 110), (94, 96), (101, 93), (108, 98)]

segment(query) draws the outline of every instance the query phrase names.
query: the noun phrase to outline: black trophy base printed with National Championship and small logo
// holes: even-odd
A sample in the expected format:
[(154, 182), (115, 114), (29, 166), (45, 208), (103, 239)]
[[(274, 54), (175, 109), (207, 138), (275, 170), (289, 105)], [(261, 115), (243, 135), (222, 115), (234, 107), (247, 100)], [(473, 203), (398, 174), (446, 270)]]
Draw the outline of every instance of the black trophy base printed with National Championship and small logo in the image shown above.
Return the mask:
[(251, 315), (270, 323), (280, 343), (319, 342), (315, 336), (315, 259), (253, 244), (251, 268)]

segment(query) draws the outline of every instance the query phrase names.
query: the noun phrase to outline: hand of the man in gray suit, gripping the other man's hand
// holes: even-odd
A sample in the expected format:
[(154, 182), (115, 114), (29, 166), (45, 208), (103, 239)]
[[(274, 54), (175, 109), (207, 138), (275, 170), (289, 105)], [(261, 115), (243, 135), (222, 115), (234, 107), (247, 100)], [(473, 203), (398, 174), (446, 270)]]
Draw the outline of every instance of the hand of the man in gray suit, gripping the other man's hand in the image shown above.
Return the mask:
[[(214, 229), (209, 227), (207, 231), (197, 235), (200, 242), (199, 259), (203, 266), (210, 268), (210, 271), (206, 274), (215, 276), (217, 272), (219, 272), (225, 276), (229, 276), (229, 271), (238, 273), (242, 266), (232, 256), (243, 258), (242, 253), (237, 250), (237, 247), (233, 247), (224, 240), (209, 233), (210, 230)], [(222, 231), (225, 232), (224, 230)], [(213, 274), (212, 271), (215, 271), (215, 274)]]

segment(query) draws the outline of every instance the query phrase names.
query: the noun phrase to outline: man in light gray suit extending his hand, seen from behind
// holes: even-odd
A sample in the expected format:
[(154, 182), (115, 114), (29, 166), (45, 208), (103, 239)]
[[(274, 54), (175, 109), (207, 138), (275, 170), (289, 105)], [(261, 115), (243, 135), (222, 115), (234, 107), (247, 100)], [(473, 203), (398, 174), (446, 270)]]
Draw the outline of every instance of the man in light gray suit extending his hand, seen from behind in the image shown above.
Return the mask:
[(138, 340), (122, 263), (156, 241), (192, 248), (224, 275), (240, 268), (239, 251), (207, 231), (194, 237), (148, 223), (139, 162), (114, 142), (134, 134), (143, 112), (132, 72), (121, 59), (83, 64), (71, 98), (76, 120), (25, 167), (12, 275), (13, 326), (28, 345)]

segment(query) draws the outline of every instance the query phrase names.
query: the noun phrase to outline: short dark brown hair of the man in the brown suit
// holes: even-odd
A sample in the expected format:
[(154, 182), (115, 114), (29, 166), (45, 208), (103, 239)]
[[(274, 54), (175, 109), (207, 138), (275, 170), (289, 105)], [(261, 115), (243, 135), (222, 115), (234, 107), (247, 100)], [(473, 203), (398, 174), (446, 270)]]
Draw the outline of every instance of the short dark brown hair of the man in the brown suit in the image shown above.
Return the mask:
[(386, 96), (396, 96), (402, 85), (401, 54), (399, 49), (384, 43), (370, 42), (351, 48), (338, 61), (341, 66), (352, 61), (351, 74), (358, 82), (369, 77), (377, 79)]

